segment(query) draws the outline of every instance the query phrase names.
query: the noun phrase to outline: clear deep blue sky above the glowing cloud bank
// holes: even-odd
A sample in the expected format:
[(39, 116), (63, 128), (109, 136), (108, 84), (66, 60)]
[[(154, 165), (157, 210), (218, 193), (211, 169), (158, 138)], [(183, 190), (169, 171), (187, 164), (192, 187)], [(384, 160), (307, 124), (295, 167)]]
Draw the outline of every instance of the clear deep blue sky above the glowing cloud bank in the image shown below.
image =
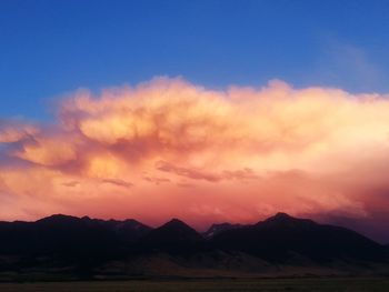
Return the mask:
[(210, 88), (389, 92), (388, 1), (0, 1), (0, 118), (51, 119), (78, 88), (181, 75)]

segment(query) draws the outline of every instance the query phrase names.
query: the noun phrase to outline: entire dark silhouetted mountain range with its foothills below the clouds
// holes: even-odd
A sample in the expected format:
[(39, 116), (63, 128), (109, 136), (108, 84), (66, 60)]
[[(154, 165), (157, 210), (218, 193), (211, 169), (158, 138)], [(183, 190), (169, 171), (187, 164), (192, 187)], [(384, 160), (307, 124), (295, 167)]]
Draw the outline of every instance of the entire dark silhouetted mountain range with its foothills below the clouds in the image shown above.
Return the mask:
[(213, 224), (199, 233), (172, 219), (56, 214), (0, 222), (0, 281), (269, 274), (386, 273), (388, 246), (352, 230), (278, 213), (256, 224)]

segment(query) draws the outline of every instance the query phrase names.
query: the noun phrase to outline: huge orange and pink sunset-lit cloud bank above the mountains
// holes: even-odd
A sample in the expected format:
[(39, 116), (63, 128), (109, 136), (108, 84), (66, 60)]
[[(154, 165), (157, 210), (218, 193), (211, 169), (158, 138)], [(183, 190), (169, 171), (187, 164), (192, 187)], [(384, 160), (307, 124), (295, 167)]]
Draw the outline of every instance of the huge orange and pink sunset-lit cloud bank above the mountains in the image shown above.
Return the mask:
[(385, 94), (157, 78), (58, 107), (49, 124), (0, 124), (1, 219), (181, 217), (205, 228), (278, 211), (375, 222), (389, 208)]

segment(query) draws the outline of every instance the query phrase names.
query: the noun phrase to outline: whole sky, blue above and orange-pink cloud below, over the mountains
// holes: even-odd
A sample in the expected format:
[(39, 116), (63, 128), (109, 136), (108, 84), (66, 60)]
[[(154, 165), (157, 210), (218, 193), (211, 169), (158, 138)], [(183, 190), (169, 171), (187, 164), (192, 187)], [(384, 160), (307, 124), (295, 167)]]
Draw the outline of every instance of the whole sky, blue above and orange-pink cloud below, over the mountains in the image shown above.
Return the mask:
[(387, 1), (0, 1), (0, 220), (389, 242)]

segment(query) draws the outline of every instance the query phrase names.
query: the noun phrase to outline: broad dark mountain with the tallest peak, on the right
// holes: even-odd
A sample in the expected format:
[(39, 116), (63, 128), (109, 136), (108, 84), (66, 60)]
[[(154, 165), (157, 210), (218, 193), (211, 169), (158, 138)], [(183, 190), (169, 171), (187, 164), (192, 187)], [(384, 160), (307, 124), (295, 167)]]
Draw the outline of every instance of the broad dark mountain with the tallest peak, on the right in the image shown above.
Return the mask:
[(241, 251), (283, 263), (293, 258), (329, 262), (335, 259), (381, 261), (385, 256), (382, 245), (355, 231), (286, 213), (220, 232), (211, 241), (216, 249)]

